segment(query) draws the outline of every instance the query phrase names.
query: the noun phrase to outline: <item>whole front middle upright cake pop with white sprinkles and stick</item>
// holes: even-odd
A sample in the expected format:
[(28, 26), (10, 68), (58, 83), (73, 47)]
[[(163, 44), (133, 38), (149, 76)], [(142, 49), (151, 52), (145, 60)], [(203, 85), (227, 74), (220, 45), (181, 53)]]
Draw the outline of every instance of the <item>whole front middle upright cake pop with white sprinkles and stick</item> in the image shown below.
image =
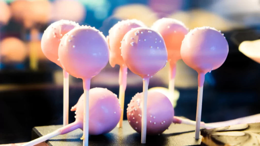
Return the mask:
[(134, 28), (126, 33), (121, 53), (127, 67), (143, 79), (141, 143), (146, 143), (147, 90), (149, 78), (165, 67), (167, 50), (162, 36), (148, 28)]

